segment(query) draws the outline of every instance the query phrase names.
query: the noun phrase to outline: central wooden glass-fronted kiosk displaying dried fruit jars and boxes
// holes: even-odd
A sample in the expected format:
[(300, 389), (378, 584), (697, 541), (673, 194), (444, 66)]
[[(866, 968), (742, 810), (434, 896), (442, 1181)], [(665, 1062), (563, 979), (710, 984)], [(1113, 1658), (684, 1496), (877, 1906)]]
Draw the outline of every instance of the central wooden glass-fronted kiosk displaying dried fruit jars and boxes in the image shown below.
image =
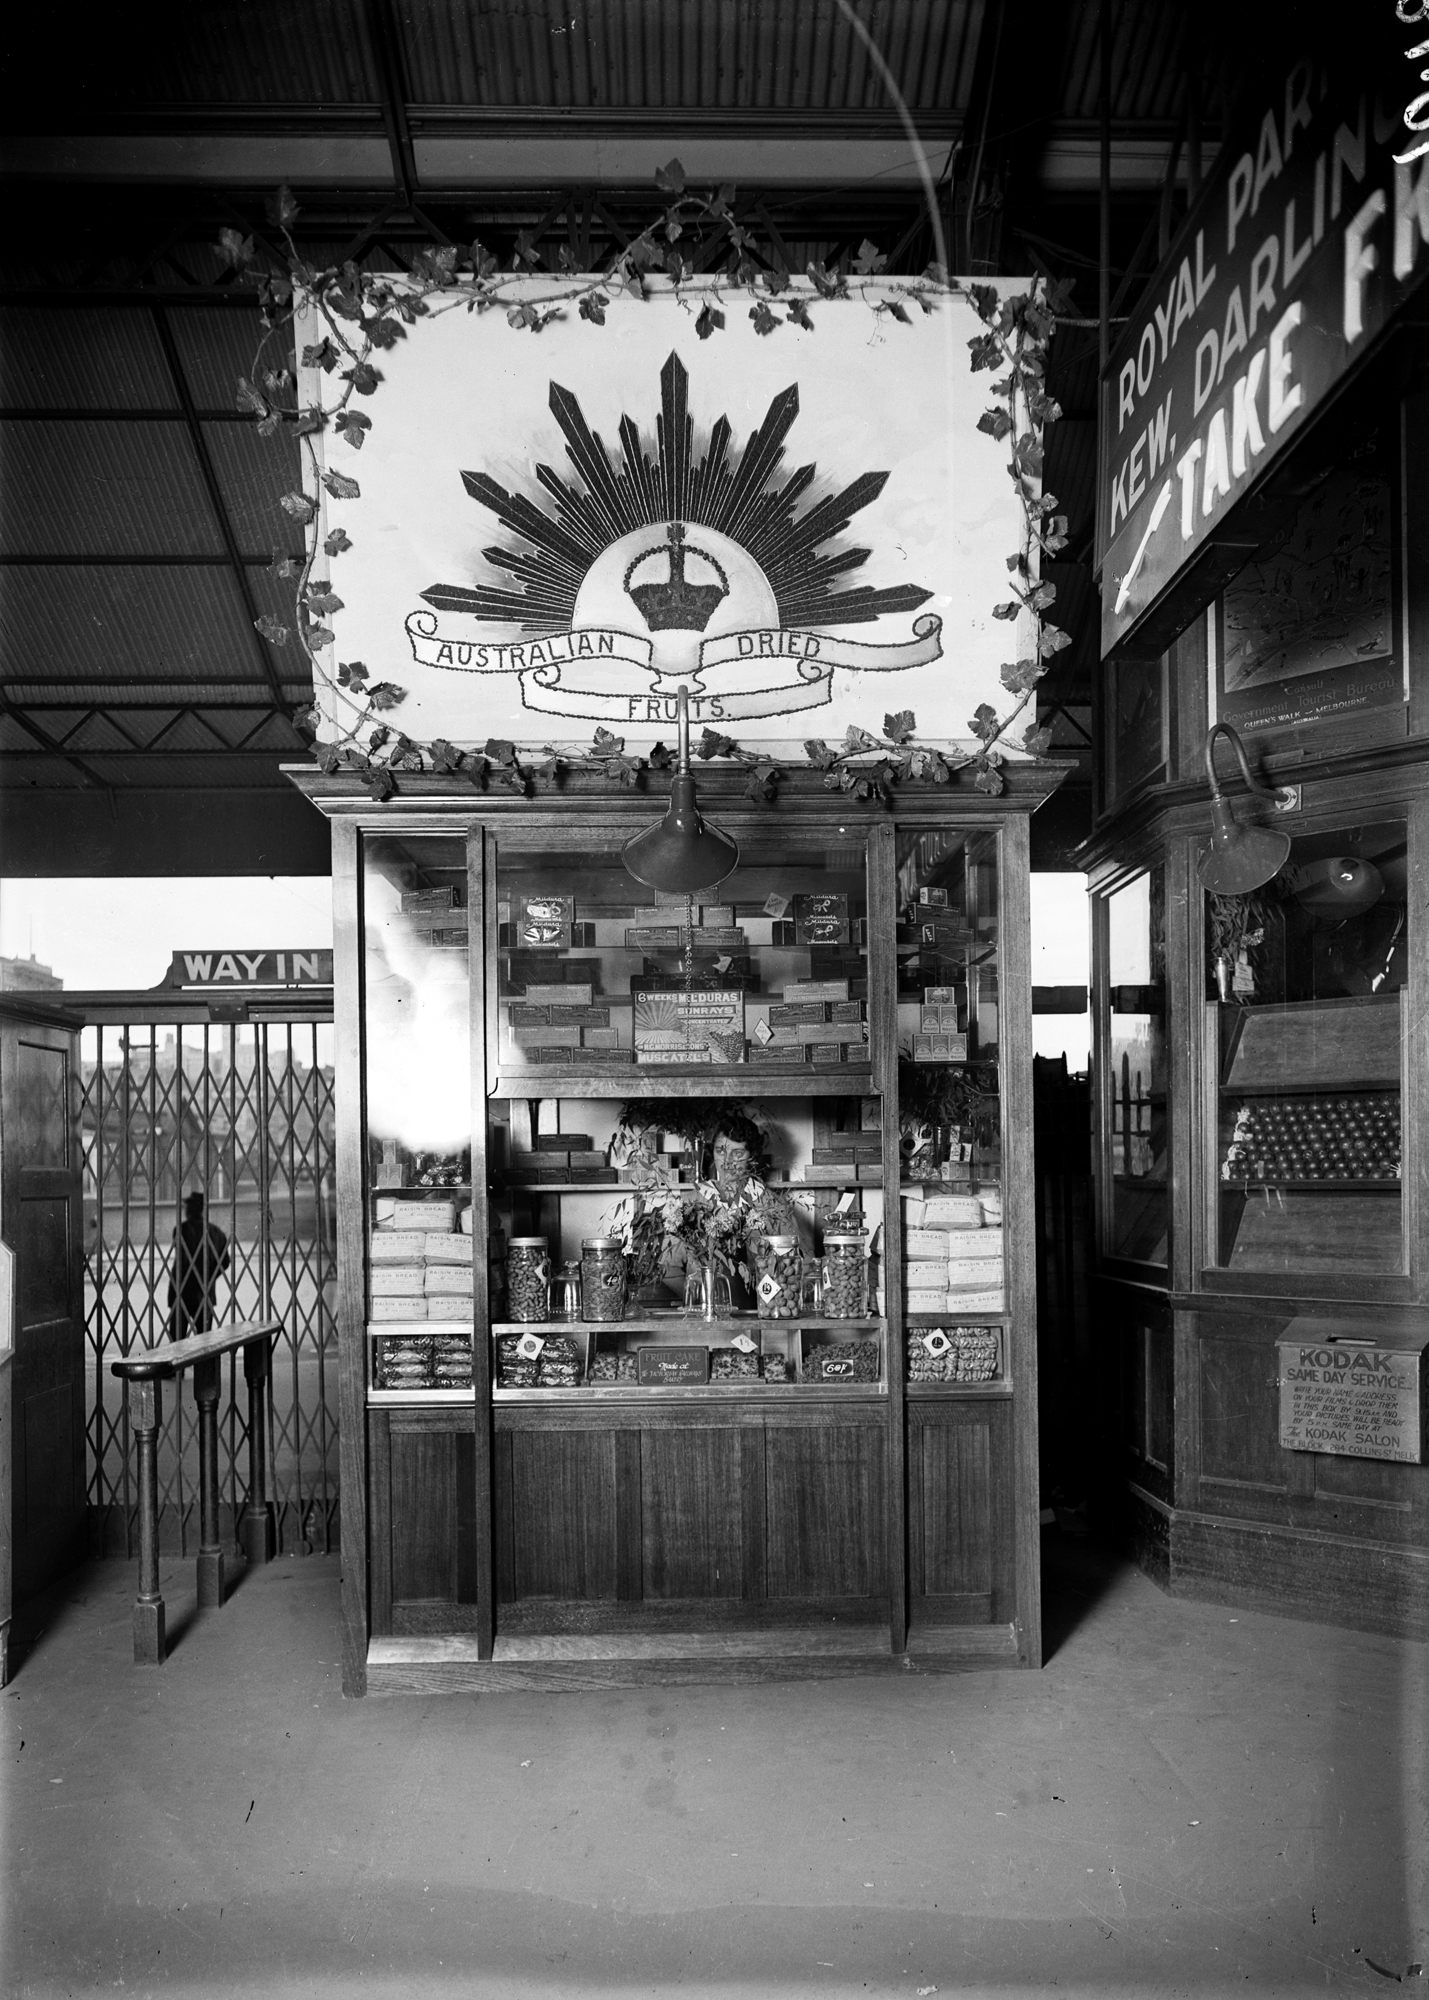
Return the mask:
[[(350, 1692), (1039, 1664), (1027, 822), (1057, 776), (871, 812), (700, 774), (741, 864), (688, 910), (620, 866), (658, 798), (294, 772), (334, 844)], [(706, 1320), (666, 1274), (614, 1322), (516, 1318), (506, 1248), (606, 1234), (622, 1134), (692, 1194), (642, 1124), (670, 1100), (747, 1108), (761, 1216), (811, 1260), (863, 1228), (867, 1288)], [(694, 1378), (642, 1382), (650, 1346)]]

